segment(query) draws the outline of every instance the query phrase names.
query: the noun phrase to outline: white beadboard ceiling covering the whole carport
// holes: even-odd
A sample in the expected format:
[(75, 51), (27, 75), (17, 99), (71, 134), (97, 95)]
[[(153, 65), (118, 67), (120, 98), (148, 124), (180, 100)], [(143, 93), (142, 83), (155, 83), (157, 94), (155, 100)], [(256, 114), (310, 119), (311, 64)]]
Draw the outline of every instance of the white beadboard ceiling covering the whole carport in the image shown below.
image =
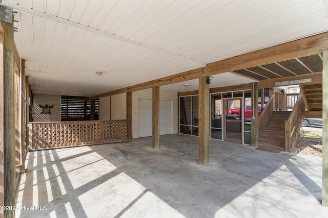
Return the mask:
[[(2, 5), (18, 12), (15, 43), (38, 94), (92, 96), (328, 31), (326, 0), (2, 0)], [(95, 70), (105, 72), (97, 76)], [(211, 86), (251, 81), (227, 73), (215, 76)], [(161, 89), (186, 91), (185, 83)], [(195, 89), (198, 85), (188, 87)]]

